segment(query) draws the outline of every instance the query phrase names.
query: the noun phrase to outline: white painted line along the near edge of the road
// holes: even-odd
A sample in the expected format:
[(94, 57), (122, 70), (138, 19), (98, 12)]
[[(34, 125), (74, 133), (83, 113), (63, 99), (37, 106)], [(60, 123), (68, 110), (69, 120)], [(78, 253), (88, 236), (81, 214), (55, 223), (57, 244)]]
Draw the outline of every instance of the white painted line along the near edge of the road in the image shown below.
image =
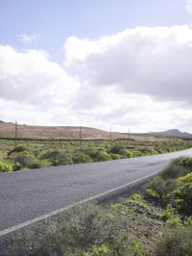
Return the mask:
[(18, 225), (12, 226), (10, 228), (4, 229), (4, 230), (0, 231), (0, 237), (2, 237), (4, 235), (7, 235), (9, 233), (12, 233), (12, 232), (14, 232), (18, 229), (29, 226), (33, 223), (36, 223), (36, 222), (40, 221), (40, 220), (56, 216), (56, 215), (60, 214), (61, 212), (67, 211), (67, 210), (69, 210), (69, 209), (71, 209), (71, 208), (73, 208), (77, 205), (81, 205), (81, 204), (87, 203), (89, 201), (97, 200), (97, 199), (100, 199), (100, 198), (105, 198), (105, 197), (107, 198), (109, 196), (109, 194), (115, 194), (115, 193), (118, 193), (118, 192), (123, 192), (124, 190), (129, 189), (129, 187), (132, 187), (133, 185), (136, 185), (136, 184), (139, 184), (140, 182), (144, 182), (145, 180), (148, 180), (149, 178), (155, 176), (156, 173), (158, 173), (158, 172), (159, 172), (159, 170), (154, 172), (153, 174), (149, 174), (149, 175), (147, 175), (143, 178), (139, 178), (139, 179), (134, 180), (130, 183), (127, 183), (127, 184), (124, 184), (122, 186), (116, 187), (115, 189), (109, 190), (108, 192), (98, 193), (96, 195), (90, 196), (90, 197), (88, 197), (84, 200), (81, 200), (79, 202), (75, 202), (73, 204), (64, 206), (64, 207), (62, 207), (58, 210), (55, 210), (53, 212), (50, 212), (50, 213), (46, 214), (46, 215), (43, 215), (43, 216), (40, 216), (40, 217), (37, 217), (37, 218), (32, 218), (28, 221), (25, 221), (25, 222), (21, 223), (21, 224), (18, 224)]

